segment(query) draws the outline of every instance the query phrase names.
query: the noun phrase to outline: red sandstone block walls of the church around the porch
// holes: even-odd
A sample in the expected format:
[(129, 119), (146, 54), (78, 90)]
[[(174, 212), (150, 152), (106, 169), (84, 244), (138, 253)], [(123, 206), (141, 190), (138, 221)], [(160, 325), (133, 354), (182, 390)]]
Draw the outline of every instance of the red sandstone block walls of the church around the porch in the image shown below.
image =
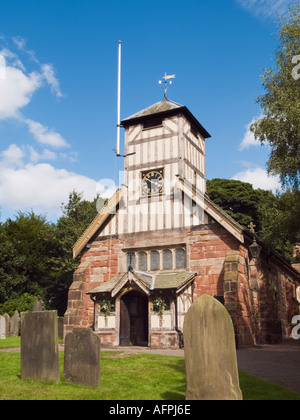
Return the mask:
[[(126, 249), (143, 246), (186, 244), (186, 269), (196, 272), (193, 299), (208, 294), (221, 300), (233, 320), (238, 347), (278, 343), (291, 332), (297, 284), (284, 265), (262, 255), (249, 261), (248, 250), (218, 223), (190, 230), (167, 231), (163, 235), (128, 235), (115, 239), (98, 237), (82, 254), (74, 273), (65, 313), (65, 334), (74, 327), (92, 327), (94, 302), (87, 293), (118, 273), (126, 271)], [(116, 321), (117, 322), (117, 321)], [(177, 334), (154, 332), (153, 347), (174, 347)], [(116, 332), (101, 333), (103, 344), (113, 346)], [(162, 337), (164, 342), (161, 342)]]

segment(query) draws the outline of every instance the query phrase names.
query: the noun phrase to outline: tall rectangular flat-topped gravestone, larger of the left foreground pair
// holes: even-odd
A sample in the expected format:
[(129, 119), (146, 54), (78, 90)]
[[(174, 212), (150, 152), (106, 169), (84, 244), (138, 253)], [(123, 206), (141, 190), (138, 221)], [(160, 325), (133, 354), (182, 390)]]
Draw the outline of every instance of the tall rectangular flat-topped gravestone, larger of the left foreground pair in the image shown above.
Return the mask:
[(22, 312), (21, 378), (59, 381), (57, 311)]

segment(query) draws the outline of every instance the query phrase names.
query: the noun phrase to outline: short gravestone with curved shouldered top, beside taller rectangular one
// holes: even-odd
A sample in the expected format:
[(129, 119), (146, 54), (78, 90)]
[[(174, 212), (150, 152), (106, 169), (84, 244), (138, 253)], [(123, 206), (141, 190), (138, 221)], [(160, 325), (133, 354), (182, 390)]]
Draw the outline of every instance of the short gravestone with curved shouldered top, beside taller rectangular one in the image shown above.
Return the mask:
[(98, 387), (100, 337), (89, 328), (74, 328), (65, 338), (64, 378), (67, 382)]

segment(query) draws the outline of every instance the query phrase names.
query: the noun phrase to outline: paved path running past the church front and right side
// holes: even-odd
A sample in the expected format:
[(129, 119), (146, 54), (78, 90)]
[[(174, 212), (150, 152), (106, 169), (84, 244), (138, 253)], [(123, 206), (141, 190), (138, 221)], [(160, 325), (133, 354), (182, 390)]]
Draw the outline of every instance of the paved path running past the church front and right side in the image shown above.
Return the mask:
[[(63, 345), (59, 347), (60, 350), (63, 350)], [(0, 352), (19, 351), (20, 348), (0, 350)], [(164, 356), (184, 356), (183, 350), (153, 350), (147, 347), (119, 347), (115, 351), (121, 351), (124, 354), (151, 353)], [(240, 349), (237, 351), (237, 359), (240, 370), (283, 385), (300, 394), (300, 340)]]

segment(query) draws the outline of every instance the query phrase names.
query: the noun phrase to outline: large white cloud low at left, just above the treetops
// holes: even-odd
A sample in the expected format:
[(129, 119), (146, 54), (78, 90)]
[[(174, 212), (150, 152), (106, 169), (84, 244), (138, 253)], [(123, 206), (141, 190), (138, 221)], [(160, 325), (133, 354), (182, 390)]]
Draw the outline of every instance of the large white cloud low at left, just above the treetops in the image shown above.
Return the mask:
[[(13, 147), (14, 146), (14, 147)], [(87, 200), (96, 197), (97, 183), (91, 178), (57, 169), (48, 163), (26, 163), (21, 166), (22, 157), (19, 149), (19, 166), (10, 159), (15, 145), (2, 152), (0, 162), (0, 203), (1, 206), (15, 210), (33, 210), (51, 213), (59, 217), (61, 203), (67, 202), (72, 190), (82, 192)]]

